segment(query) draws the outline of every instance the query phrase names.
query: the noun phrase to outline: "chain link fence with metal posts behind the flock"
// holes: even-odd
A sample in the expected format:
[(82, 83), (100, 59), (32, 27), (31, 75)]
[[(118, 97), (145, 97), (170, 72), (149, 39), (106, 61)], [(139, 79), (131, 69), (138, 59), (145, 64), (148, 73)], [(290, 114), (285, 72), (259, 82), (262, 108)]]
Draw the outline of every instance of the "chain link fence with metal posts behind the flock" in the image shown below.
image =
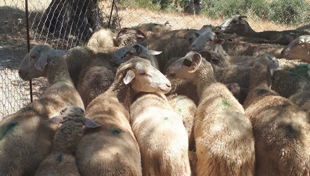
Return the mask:
[[(247, 15), (255, 31), (296, 29), (309, 24), (310, 0), (29, 0), (30, 48), (47, 44), (69, 50), (92, 33), (142, 23), (172, 29), (219, 25), (231, 15)], [(0, 1), (0, 119), (30, 102), (28, 81), (18, 76), (27, 54), (25, 0)], [(32, 80), (33, 99), (46, 89), (45, 78)]]

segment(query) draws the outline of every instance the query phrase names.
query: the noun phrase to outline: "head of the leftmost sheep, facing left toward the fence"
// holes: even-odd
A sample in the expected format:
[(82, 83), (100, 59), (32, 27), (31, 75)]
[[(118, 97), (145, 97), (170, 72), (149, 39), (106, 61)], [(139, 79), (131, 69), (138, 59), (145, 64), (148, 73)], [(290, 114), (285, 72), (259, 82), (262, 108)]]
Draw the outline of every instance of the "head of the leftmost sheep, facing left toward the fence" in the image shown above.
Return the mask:
[(69, 53), (70, 51), (55, 50), (48, 45), (37, 45), (24, 57), (18, 71), (19, 76), (24, 81), (32, 78), (47, 77), (46, 65), (51, 59)]

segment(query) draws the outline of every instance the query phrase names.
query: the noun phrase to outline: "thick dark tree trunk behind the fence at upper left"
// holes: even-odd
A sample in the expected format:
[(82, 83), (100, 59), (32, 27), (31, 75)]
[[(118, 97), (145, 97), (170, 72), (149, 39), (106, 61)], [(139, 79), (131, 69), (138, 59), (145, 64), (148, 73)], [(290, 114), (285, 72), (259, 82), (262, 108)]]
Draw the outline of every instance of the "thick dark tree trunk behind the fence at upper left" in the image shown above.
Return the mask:
[(77, 37), (87, 41), (101, 27), (97, 0), (52, 0), (38, 29), (54, 37)]

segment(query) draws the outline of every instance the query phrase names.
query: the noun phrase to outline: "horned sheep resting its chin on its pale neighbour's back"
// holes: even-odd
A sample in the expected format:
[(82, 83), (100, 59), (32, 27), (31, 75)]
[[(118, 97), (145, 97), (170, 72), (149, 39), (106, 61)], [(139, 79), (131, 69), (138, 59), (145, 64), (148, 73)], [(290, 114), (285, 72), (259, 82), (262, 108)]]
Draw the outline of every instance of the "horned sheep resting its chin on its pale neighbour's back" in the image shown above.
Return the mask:
[(81, 175), (141, 176), (139, 146), (129, 123), (130, 104), (140, 91), (167, 93), (170, 88), (169, 80), (149, 60), (133, 57), (122, 63), (110, 88), (86, 108), (86, 117), (102, 127), (85, 130), (78, 143)]

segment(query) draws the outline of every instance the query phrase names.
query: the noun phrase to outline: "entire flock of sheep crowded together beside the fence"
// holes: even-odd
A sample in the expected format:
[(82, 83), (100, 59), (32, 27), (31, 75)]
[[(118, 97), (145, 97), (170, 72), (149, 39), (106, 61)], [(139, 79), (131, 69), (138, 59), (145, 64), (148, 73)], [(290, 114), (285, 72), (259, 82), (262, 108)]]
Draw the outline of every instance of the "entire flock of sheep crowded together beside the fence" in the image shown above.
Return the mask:
[(243, 15), (34, 46), (19, 76), (49, 86), (0, 121), (0, 175), (309, 176), (309, 53), (309, 26)]

